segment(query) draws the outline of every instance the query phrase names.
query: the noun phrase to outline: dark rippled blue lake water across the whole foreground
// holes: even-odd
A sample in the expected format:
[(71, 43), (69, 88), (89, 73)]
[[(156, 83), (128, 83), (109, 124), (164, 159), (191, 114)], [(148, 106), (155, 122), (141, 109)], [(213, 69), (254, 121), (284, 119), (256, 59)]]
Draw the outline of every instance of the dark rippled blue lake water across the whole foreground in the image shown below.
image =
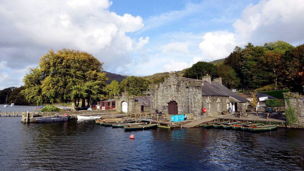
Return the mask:
[[(0, 117), (0, 170), (303, 170), (304, 130), (126, 132), (95, 121)], [(129, 139), (131, 134), (135, 139)]]

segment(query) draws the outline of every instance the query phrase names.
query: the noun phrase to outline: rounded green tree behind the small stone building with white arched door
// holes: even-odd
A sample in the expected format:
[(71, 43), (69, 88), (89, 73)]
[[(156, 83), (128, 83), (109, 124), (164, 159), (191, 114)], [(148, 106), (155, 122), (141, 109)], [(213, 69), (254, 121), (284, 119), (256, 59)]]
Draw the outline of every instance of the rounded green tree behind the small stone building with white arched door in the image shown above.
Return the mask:
[(142, 91), (146, 91), (149, 84), (151, 82), (145, 78), (130, 76), (121, 81), (120, 88), (129, 95), (142, 96)]

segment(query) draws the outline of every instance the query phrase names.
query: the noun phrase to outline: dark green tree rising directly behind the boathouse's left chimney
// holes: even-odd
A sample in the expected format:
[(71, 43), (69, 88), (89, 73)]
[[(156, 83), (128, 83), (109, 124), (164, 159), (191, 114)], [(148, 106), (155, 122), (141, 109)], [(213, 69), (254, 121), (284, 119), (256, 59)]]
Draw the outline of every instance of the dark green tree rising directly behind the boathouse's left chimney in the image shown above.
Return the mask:
[(200, 61), (193, 64), (191, 68), (187, 69), (183, 76), (193, 79), (202, 79), (202, 77), (206, 75), (211, 76), (211, 79), (217, 77), (216, 65)]

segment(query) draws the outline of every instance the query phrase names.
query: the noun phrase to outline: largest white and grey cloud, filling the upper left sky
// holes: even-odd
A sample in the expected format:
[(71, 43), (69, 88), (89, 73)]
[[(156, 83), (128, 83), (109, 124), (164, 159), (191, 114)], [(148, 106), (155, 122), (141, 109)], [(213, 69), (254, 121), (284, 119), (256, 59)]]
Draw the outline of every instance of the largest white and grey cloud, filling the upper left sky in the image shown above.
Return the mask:
[(110, 12), (111, 4), (108, 0), (2, 1), (0, 40), (6, 42), (0, 44), (2, 60), (10, 67), (19, 67), (12, 61), (21, 56), (27, 65), (37, 63), (51, 48), (87, 51), (101, 61), (128, 60), (123, 55), (134, 50), (136, 41), (126, 33), (144, 24), (140, 16)]

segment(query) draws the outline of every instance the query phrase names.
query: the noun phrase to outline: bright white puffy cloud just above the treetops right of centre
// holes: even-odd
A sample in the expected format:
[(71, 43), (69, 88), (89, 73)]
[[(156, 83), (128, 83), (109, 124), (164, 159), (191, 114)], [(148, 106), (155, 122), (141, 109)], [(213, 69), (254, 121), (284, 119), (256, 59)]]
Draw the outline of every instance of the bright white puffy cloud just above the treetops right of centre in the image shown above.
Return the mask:
[(225, 58), (237, 45), (235, 35), (227, 31), (208, 32), (199, 44), (203, 58), (207, 61)]

